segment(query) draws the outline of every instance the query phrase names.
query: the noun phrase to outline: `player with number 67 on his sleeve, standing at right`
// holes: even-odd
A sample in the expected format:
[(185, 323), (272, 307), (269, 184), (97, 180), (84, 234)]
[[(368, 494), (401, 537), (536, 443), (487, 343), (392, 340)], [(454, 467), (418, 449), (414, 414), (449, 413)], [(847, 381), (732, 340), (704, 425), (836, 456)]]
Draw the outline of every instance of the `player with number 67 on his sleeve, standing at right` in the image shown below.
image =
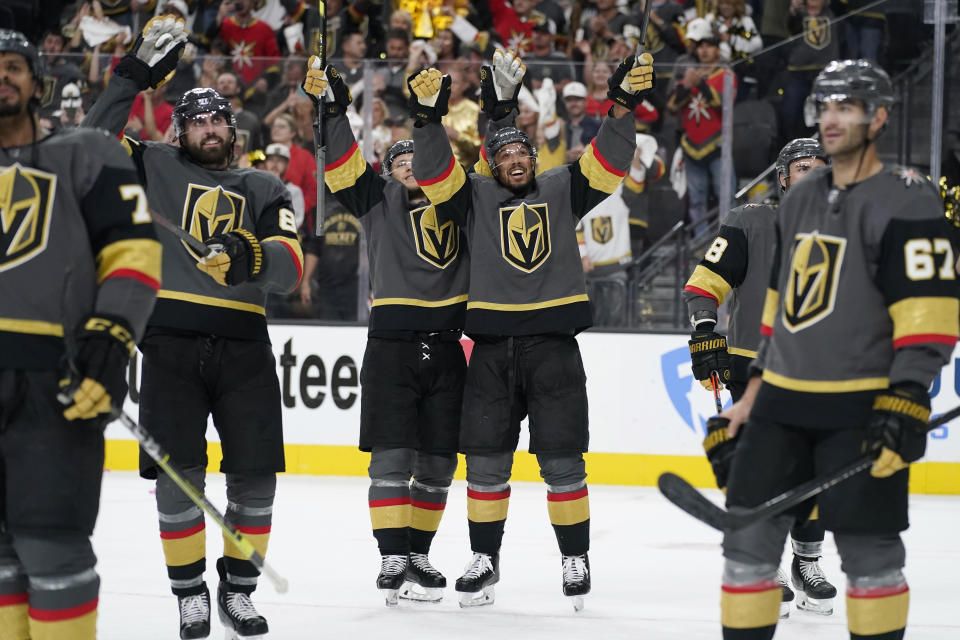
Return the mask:
[[(746, 422), (727, 485), (734, 512), (876, 456), (869, 474), (817, 497), (857, 640), (904, 637), (908, 469), (926, 449), (927, 389), (953, 350), (960, 307), (936, 189), (877, 156), (893, 99), (887, 74), (864, 60), (832, 62), (814, 81), (805, 111), (832, 166), (793, 186), (777, 211), (765, 337), (743, 396), (721, 414), (730, 437)], [(725, 534), (725, 639), (773, 637), (783, 540), (810, 508)]]

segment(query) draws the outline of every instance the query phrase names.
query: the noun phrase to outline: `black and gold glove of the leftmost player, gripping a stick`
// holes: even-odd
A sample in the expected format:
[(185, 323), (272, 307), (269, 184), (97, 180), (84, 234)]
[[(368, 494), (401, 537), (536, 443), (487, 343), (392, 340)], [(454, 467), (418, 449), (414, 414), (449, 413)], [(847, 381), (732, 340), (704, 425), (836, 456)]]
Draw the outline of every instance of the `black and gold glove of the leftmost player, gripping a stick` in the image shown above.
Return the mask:
[(118, 316), (91, 315), (77, 330), (77, 354), (60, 380), (59, 400), (67, 420), (110, 414), (127, 395), (127, 364), (133, 331)]

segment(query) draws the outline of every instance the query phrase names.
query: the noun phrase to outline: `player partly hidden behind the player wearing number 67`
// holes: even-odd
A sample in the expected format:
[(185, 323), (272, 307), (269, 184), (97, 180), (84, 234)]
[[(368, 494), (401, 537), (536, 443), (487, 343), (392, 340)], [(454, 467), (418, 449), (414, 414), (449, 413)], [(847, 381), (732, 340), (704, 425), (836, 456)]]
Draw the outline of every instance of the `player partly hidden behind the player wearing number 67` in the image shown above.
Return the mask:
[[(797, 184), (810, 171), (827, 164), (820, 143), (811, 138), (797, 138), (780, 150), (777, 156), (777, 180), (781, 195)], [(768, 205), (744, 205), (730, 212), (720, 233), (694, 269), (684, 287), (684, 299), (690, 313), (693, 334), (690, 337), (690, 360), (693, 375), (705, 387), (713, 389), (711, 373), (730, 389), (736, 402), (747, 385), (747, 367), (757, 355), (760, 344), (760, 315), (766, 293), (775, 244), (776, 209)], [(730, 296), (729, 345), (726, 337), (716, 333), (717, 307)], [(717, 484), (726, 488), (733, 454), (733, 443), (722, 438), (726, 422), (707, 421), (704, 448), (713, 464)], [(719, 436), (716, 435), (719, 432)], [(729, 442), (729, 444), (728, 444)], [(823, 548), (823, 525), (816, 518), (799, 522), (790, 530), (793, 544), (791, 580), (799, 591), (797, 608), (814, 613), (833, 613), (836, 588), (820, 569)], [(783, 591), (780, 617), (790, 615), (793, 591), (782, 572), (777, 582)]]

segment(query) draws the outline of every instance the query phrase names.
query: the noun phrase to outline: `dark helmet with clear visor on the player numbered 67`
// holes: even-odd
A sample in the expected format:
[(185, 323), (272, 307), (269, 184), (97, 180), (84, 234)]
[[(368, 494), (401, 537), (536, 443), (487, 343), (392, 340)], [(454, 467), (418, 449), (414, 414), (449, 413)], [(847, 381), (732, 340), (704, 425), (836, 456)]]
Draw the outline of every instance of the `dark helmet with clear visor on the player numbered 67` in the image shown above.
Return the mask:
[(803, 118), (812, 127), (820, 121), (823, 103), (857, 100), (869, 122), (877, 107), (889, 107), (895, 99), (890, 76), (879, 66), (869, 60), (834, 60), (813, 81)]

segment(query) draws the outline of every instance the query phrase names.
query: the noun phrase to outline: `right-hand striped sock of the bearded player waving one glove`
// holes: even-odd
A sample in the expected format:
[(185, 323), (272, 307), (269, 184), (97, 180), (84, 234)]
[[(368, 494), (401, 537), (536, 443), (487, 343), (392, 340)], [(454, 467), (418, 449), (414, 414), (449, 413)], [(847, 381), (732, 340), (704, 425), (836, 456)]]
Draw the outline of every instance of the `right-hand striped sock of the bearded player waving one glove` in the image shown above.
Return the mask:
[[(273, 498), (277, 476), (242, 476), (227, 474), (226, 521), (250, 541), (261, 556), (267, 555), (270, 527), (273, 521)], [(220, 568), (221, 563), (217, 563)], [(233, 541), (223, 536), (221, 579), (230, 591), (250, 594), (257, 588), (259, 569), (246, 559)]]

